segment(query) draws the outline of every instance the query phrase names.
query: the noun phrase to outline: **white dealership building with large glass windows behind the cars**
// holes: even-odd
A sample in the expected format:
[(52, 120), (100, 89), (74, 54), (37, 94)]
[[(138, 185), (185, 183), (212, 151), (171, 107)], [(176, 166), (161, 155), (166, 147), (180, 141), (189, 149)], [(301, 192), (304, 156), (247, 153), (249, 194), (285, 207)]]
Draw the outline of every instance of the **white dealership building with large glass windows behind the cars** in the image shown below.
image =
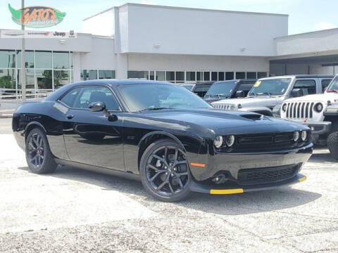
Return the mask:
[[(288, 35), (288, 25), (284, 14), (124, 4), (84, 19), (74, 38), (25, 39), (27, 88), (338, 72), (338, 29)], [(0, 37), (2, 88), (20, 89), (20, 48)]]

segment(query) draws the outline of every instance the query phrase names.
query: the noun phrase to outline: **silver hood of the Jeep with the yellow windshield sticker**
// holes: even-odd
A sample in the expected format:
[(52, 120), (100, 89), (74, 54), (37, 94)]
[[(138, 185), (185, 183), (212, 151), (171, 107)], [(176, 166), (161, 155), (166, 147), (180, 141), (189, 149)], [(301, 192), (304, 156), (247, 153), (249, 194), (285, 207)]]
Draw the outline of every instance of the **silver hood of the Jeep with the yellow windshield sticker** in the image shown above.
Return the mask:
[(260, 96), (252, 98), (232, 98), (232, 99), (223, 99), (217, 102), (211, 103), (212, 105), (241, 105), (242, 108), (251, 107), (251, 106), (274, 106), (277, 103), (282, 101), (280, 97), (270, 98), (269, 96)]

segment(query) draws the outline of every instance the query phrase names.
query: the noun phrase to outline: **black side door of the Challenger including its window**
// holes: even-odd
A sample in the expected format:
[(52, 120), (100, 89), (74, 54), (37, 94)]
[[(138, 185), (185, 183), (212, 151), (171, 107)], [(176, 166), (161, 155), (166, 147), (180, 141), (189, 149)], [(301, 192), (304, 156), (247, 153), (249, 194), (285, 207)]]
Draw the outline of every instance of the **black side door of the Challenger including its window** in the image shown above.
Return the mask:
[[(125, 170), (123, 162), (123, 115), (111, 89), (106, 86), (80, 86), (69, 91), (61, 103), (68, 105), (63, 135), (73, 162), (108, 169)], [(92, 112), (88, 106), (103, 102), (112, 115)]]

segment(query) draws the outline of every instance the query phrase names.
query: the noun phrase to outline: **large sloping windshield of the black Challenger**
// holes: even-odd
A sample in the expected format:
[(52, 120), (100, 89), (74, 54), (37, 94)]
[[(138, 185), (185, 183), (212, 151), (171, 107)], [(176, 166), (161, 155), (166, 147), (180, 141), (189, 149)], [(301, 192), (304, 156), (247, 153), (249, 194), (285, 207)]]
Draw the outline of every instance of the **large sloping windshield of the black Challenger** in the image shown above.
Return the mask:
[(160, 109), (212, 108), (182, 86), (169, 84), (130, 84), (118, 87), (132, 112)]

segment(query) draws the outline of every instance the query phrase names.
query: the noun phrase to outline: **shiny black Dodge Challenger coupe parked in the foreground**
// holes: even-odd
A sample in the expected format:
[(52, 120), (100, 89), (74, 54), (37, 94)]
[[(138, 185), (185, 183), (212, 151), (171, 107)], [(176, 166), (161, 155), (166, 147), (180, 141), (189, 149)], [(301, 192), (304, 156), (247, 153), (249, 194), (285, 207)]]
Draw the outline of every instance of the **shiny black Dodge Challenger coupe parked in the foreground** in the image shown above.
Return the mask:
[(303, 181), (313, 150), (306, 126), (216, 110), (182, 86), (140, 80), (63, 86), (23, 103), (13, 131), (32, 172), (63, 164), (140, 179), (164, 201)]

